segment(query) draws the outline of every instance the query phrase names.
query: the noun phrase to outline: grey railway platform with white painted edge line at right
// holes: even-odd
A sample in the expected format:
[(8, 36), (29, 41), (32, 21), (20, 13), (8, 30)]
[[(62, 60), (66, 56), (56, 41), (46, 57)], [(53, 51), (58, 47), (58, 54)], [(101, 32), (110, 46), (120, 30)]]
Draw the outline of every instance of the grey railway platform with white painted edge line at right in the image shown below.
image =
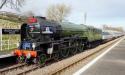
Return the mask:
[(99, 59), (95, 58), (75, 72), (74, 75), (125, 75), (125, 39)]

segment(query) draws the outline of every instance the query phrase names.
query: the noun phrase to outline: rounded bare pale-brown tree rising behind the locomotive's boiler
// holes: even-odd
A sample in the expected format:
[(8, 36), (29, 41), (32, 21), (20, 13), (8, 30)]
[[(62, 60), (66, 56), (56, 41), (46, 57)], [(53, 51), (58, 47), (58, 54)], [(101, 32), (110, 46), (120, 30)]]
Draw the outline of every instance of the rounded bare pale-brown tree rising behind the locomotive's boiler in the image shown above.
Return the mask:
[(70, 7), (65, 4), (51, 5), (47, 11), (46, 16), (49, 20), (62, 22), (70, 13)]

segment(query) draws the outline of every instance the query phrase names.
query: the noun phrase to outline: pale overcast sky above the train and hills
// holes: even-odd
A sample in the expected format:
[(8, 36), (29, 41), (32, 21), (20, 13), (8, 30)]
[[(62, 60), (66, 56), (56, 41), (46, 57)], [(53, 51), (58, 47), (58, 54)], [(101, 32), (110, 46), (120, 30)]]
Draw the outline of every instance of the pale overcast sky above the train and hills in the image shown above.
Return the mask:
[[(101, 27), (123, 26), (125, 28), (125, 0), (26, 0), (21, 11), (33, 11), (36, 15), (45, 16), (46, 9), (52, 4), (64, 3), (71, 6), (68, 21), (77, 24), (84, 23), (84, 13), (87, 13), (87, 24)], [(8, 10), (4, 7), (2, 10)], [(12, 10), (10, 10), (12, 11)]]

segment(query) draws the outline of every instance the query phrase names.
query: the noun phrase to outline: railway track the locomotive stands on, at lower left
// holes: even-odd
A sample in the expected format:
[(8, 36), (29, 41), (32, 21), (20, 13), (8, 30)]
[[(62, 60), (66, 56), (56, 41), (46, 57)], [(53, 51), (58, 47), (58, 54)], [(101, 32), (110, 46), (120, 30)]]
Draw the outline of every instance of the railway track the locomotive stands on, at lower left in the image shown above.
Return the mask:
[[(52, 61), (51, 63), (53, 63), (55, 61)], [(49, 65), (51, 63), (48, 63), (46, 65)], [(0, 75), (23, 75), (26, 74), (28, 72), (31, 72), (35, 69), (39, 69), (43, 66), (46, 66), (45, 64), (43, 65), (36, 65), (36, 64), (26, 64), (26, 63), (22, 63), (22, 64), (16, 64), (14, 66), (11, 67), (6, 67), (3, 69), (0, 69)]]

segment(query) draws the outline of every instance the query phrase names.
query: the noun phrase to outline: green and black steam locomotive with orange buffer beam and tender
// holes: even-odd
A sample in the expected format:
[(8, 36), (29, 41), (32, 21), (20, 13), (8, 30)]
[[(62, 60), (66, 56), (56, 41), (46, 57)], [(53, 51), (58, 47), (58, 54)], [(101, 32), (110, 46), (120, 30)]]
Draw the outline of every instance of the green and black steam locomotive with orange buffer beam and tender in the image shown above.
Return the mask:
[(21, 25), (21, 41), (14, 51), (18, 62), (43, 64), (83, 52), (102, 41), (102, 30), (71, 22), (30, 17)]

